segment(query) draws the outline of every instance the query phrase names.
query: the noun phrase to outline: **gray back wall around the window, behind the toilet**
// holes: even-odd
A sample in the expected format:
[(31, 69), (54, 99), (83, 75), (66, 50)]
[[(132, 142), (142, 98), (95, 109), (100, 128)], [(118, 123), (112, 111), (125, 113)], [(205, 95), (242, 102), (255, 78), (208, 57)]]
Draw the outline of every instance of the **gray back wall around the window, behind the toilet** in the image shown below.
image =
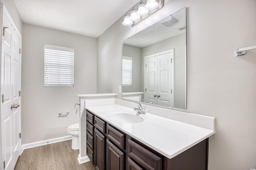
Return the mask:
[[(74, 87), (44, 87), (44, 45), (74, 49)], [(23, 25), (22, 34), (22, 144), (67, 136), (78, 123), (76, 94), (96, 93), (97, 39)], [(70, 114), (58, 117), (58, 113)]]

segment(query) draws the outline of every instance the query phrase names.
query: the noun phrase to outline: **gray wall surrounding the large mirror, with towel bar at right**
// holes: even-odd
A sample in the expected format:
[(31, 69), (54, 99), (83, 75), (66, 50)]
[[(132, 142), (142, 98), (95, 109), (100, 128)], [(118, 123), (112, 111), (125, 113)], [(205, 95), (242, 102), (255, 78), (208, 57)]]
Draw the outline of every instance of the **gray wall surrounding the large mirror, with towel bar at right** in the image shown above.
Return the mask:
[[(187, 7), (187, 110), (216, 117), (209, 141), (209, 170), (256, 168), (255, 0), (165, 0), (164, 8), (134, 27), (123, 17), (98, 38), (97, 92), (122, 85), (122, 41)], [(121, 98), (121, 94), (118, 94)]]

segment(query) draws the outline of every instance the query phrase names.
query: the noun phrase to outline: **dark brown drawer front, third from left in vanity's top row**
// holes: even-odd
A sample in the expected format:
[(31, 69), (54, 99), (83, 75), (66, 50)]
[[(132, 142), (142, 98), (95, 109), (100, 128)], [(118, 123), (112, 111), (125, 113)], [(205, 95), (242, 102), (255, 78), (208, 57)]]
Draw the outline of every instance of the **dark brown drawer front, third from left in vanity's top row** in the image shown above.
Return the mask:
[(120, 149), (124, 150), (124, 134), (117, 131), (110, 125), (107, 125), (107, 131), (106, 131), (107, 138), (112, 141), (116, 146), (118, 146)]

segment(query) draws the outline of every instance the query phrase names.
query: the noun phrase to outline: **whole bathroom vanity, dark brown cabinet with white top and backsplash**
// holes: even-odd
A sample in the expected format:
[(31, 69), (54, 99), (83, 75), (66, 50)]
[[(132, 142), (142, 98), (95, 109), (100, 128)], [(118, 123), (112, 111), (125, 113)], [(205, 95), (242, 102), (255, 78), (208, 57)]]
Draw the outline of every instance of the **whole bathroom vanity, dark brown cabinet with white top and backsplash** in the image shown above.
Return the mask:
[(85, 102), (86, 154), (96, 169), (207, 170), (213, 117), (146, 105), (138, 115), (133, 107), (119, 99)]

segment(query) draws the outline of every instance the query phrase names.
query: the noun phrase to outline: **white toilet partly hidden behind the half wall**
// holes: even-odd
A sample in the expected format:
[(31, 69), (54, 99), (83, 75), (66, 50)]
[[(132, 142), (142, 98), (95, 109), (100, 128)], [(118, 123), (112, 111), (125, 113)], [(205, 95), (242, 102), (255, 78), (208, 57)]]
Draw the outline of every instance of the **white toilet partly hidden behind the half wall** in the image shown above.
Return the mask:
[(79, 123), (70, 125), (68, 127), (67, 133), (72, 135), (72, 149), (79, 149)]

